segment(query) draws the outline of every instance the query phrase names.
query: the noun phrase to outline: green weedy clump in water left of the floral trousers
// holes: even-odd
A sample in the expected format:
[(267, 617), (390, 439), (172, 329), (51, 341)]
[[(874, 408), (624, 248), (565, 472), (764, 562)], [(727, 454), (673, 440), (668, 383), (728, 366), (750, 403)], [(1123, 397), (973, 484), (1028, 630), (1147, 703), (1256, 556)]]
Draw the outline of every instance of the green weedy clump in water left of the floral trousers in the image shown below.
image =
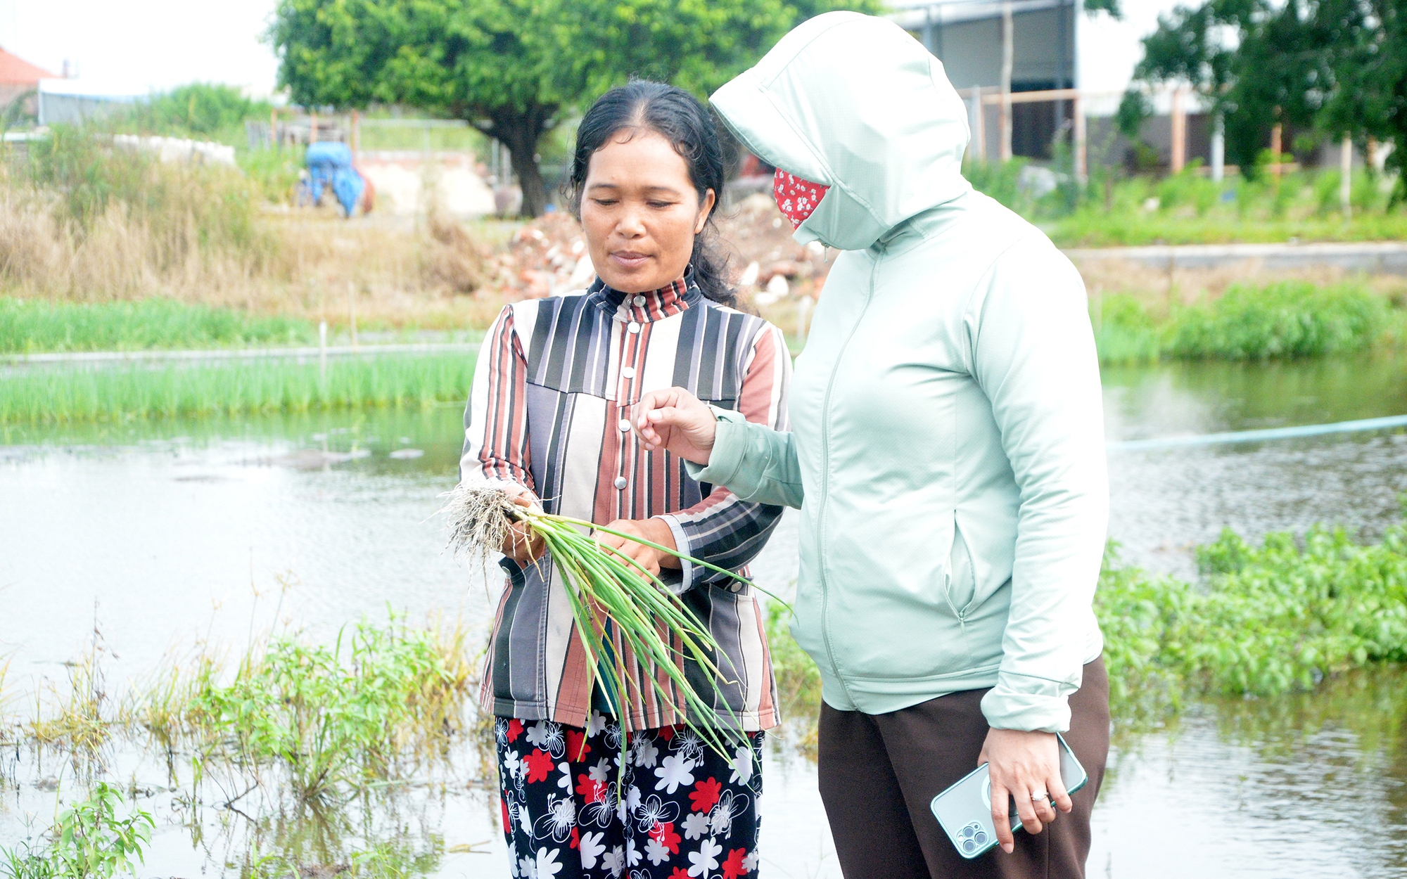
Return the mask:
[(301, 802), (435, 759), (473, 689), (463, 629), (359, 623), (332, 646), (280, 636), (227, 674), (172, 669), (129, 716), (197, 765), (276, 768)]

